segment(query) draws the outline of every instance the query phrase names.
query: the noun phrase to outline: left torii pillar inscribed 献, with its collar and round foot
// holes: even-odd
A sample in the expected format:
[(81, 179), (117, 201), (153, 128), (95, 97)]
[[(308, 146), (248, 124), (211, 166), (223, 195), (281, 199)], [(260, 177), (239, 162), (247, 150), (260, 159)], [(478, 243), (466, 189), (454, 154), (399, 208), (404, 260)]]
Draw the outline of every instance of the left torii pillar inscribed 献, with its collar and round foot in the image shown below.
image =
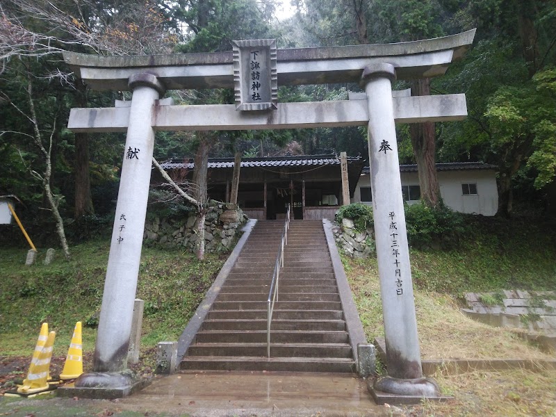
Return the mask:
[(136, 297), (147, 199), (152, 170), (156, 99), (165, 88), (152, 74), (129, 77), (133, 91), (120, 190), (99, 318), (93, 372), (76, 379), (76, 388), (119, 390), (138, 383), (127, 370), (133, 302)]

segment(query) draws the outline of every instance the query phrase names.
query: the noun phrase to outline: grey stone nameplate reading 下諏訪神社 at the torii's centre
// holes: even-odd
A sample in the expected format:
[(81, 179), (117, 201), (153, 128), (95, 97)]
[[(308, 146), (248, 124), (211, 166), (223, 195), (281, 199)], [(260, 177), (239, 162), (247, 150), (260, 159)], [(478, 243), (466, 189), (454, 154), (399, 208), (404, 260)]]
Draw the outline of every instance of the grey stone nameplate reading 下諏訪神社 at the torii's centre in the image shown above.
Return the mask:
[(276, 40), (234, 40), (232, 45), (236, 110), (276, 110)]

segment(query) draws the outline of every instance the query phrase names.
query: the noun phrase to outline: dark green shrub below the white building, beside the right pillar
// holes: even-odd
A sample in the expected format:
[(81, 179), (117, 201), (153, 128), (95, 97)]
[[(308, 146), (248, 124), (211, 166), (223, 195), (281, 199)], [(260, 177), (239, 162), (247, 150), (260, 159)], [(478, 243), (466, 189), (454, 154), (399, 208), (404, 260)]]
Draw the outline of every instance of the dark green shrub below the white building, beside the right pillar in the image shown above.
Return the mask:
[(429, 247), (441, 243), (449, 246), (457, 243), (466, 228), (465, 215), (447, 206), (430, 208), (425, 204), (405, 206), (407, 240), (410, 245)]

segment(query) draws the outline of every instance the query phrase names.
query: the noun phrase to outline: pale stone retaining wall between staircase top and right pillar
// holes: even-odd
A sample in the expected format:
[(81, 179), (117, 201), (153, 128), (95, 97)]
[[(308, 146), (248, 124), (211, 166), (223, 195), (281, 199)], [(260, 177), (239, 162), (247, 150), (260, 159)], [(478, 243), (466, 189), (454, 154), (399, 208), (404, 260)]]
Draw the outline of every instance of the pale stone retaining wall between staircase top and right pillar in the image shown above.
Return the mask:
[(343, 219), (341, 226), (332, 227), (334, 240), (338, 248), (347, 256), (354, 258), (368, 258), (375, 254), (375, 229), (367, 227), (365, 231), (355, 229), (353, 220)]

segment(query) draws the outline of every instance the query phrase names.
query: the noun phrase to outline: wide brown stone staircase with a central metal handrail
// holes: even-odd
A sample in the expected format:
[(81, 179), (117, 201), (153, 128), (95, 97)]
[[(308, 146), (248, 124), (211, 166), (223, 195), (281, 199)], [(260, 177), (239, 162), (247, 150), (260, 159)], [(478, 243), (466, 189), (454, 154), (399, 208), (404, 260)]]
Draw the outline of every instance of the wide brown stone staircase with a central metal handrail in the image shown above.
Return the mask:
[(320, 220), (293, 220), (279, 278), (267, 357), (267, 299), (283, 221), (257, 222), (182, 370), (355, 371)]

